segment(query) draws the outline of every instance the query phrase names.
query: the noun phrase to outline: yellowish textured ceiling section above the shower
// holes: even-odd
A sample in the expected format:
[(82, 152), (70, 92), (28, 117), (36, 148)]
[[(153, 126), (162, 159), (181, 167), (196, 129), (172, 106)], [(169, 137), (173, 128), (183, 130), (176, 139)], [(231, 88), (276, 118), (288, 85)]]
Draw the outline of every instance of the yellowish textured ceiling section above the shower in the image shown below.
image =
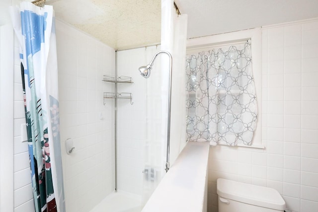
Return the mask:
[(55, 16), (114, 49), (160, 43), (161, 0), (47, 0)]

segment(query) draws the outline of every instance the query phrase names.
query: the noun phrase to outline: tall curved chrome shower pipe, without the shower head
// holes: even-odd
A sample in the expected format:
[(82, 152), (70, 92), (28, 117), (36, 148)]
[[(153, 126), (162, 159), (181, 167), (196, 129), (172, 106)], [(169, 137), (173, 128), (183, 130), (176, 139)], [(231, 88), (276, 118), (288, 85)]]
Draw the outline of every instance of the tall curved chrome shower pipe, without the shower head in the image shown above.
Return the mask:
[[(170, 120), (171, 120), (171, 85), (172, 85), (172, 56), (168, 51), (161, 50), (153, 57), (152, 61), (149, 63), (149, 67), (154, 65), (156, 57), (160, 53), (165, 53), (169, 56), (169, 96), (168, 96), (168, 123), (167, 123), (167, 152), (166, 152), (166, 163), (165, 163), (165, 172), (170, 168)], [(147, 67), (148, 67), (147, 66)]]

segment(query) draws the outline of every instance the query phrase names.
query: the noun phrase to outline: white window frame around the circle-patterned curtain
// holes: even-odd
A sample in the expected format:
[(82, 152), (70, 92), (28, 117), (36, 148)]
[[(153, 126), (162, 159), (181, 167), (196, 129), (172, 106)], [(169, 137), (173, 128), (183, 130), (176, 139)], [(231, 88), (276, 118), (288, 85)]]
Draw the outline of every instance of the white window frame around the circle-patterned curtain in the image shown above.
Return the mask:
[[(187, 39), (186, 54), (197, 53), (202, 50), (215, 48), (221, 45), (241, 43), (251, 39), (252, 69), (257, 97), (257, 126), (254, 131), (252, 145), (239, 144), (240, 147), (264, 149), (262, 144), (262, 31), (261, 28), (246, 29), (236, 32), (209, 35), (204, 37)], [(221, 144), (222, 145), (222, 144)]]

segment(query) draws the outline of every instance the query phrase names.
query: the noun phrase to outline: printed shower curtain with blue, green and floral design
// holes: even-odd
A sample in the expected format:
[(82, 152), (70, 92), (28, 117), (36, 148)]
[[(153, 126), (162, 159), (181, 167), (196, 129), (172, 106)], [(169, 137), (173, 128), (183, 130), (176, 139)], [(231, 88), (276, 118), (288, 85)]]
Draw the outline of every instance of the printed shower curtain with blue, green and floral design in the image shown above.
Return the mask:
[(53, 7), (11, 8), (21, 76), (36, 212), (65, 212)]

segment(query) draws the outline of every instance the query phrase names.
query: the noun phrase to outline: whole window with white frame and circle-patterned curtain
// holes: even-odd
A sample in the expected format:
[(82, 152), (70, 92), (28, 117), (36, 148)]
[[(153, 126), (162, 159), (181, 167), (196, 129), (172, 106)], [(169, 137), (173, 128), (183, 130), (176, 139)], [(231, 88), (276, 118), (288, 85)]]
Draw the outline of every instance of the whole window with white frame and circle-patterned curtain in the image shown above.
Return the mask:
[(253, 29), (188, 41), (189, 140), (261, 147), (260, 38)]

